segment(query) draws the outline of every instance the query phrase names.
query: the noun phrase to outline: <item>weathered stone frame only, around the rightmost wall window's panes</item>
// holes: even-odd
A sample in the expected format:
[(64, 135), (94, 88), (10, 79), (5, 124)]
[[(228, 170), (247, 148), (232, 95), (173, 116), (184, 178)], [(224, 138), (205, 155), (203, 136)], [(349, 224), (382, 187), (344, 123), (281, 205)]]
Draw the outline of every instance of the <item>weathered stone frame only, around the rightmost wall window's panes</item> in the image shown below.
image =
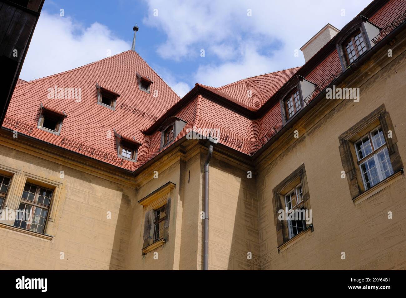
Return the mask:
[[(357, 157), (354, 147), (354, 142), (360, 137), (365, 135), (368, 131), (374, 127), (380, 126), (384, 132), (386, 146), (388, 148), (389, 159), (391, 160), (393, 174), (388, 178), (375, 184), (373, 187), (365, 190), (363, 185), (363, 179), (361, 171), (359, 170)], [(388, 132), (392, 132), (392, 137), (388, 137)], [(341, 163), (343, 165), (344, 172), (350, 189), (350, 195), (355, 200), (359, 195), (366, 191), (371, 191), (380, 187), (383, 182), (391, 179), (391, 177), (399, 172), (403, 173), (403, 163), (397, 148), (397, 138), (394, 130), (394, 126), (389, 115), (386, 111), (385, 105), (372, 111), (369, 115), (365, 116), (362, 120), (354, 124), (350, 129), (345, 131), (339, 136), (339, 152), (341, 157)]]

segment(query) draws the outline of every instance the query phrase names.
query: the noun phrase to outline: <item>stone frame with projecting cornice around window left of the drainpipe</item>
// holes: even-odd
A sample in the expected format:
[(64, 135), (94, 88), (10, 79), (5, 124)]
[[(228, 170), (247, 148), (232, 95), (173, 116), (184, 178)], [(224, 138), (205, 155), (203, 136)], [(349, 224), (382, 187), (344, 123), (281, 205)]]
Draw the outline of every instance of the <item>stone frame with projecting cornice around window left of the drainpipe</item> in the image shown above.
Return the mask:
[[(156, 189), (143, 199), (138, 201), (138, 204), (144, 206), (145, 219), (144, 219), (144, 233), (143, 233), (143, 246), (142, 254), (145, 255), (150, 251), (162, 246), (169, 240), (169, 221), (171, 215), (171, 191), (175, 189), (176, 184), (167, 182), (160, 188)], [(164, 232), (162, 237), (154, 241), (154, 218), (156, 210), (166, 205), (166, 217), (164, 219)]]

